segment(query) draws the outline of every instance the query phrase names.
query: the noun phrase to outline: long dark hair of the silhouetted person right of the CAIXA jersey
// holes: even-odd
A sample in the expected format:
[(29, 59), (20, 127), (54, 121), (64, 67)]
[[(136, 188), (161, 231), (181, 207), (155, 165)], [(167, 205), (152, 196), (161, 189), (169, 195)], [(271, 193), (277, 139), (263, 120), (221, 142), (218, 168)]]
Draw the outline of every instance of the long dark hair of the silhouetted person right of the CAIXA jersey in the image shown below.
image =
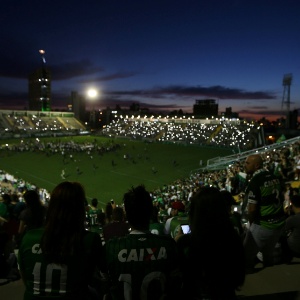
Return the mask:
[(191, 261), (205, 274), (212, 292), (220, 286), (235, 289), (242, 285), (245, 280), (244, 249), (221, 192), (214, 187), (201, 188), (191, 197), (189, 218)]

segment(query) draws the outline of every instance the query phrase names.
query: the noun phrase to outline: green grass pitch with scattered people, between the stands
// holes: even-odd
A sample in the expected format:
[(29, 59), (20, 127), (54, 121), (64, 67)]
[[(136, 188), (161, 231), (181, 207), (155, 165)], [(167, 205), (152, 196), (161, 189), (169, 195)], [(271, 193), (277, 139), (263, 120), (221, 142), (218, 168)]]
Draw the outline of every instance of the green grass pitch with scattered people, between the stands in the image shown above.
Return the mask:
[[(106, 145), (111, 141), (94, 136), (40, 140), (56, 142), (58, 139), (64, 142), (72, 139), (77, 143), (92, 142), (96, 139), (98, 145)], [(1, 145), (12, 143), (20, 143), (20, 140), (1, 141)], [(74, 153), (73, 160), (68, 159), (67, 164), (63, 163), (60, 153), (47, 156), (43, 152), (20, 153), (2, 149), (0, 169), (51, 191), (62, 181), (61, 171), (64, 168), (66, 180), (81, 182), (88, 200), (96, 197), (103, 207), (110, 199), (120, 203), (122, 195), (131, 186), (144, 184), (151, 191), (176, 179), (189, 176), (191, 170), (199, 168), (200, 160), (206, 165), (206, 160), (210, 158), (231, 154), (229, 149), (213, 147), (146, 143), (124, 139), (115, 139), (114, 143), (121, 145), (115, 152), (107, 152), (102, 156), (97, 153), (91, 155), (86, 152)], [(135, 162), (125, 160), (124, 154), (129, 154)], [(112, 166), (112, 160), (115, 166)], [(77, 167), (82, 172), (79, 175), (76, 172)], [(152, 171), (153, 167), (157, 170), (156, 174)]]

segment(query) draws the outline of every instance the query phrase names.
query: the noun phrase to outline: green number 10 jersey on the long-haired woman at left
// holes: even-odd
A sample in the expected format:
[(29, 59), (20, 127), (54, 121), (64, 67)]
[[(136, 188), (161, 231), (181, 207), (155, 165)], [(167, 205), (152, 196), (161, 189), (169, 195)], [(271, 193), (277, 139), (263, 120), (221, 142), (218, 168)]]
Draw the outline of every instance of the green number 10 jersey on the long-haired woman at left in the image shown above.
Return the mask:
[(24, 276), (24, 300), (86, 299), (95, 266), (104, 269), (104, 250), (98, 234), (86, 232), (82, 252), (65, 265), (48, 262), (40, 248), (44, 229), (29, 230), (19, 248), (18, 262)]

